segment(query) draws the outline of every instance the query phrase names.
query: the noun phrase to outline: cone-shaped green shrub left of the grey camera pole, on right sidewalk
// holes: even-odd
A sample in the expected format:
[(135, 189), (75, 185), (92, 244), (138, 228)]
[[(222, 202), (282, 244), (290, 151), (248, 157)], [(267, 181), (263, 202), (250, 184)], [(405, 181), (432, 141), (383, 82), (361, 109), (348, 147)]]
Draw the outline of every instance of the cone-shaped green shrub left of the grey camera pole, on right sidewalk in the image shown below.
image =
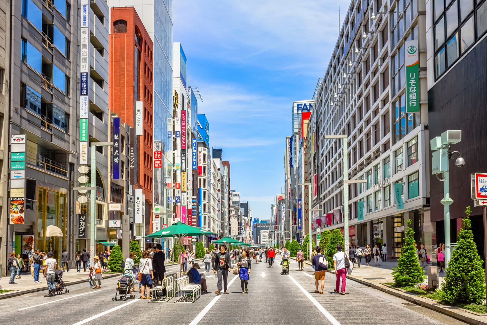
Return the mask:
[[(393, 278), (396, 286), (410, 286), (422, 283), (426, 276), (425, 271), (419, 265), (416, 247), (414, 247), (414, 229), (411, 227), (412, 220), (408, 219), (406, 238), (401, 247), (401, 257), (397, 260), (397, 267), (393, 267)], [(419, 248), (419, 247), (418, 247)]]

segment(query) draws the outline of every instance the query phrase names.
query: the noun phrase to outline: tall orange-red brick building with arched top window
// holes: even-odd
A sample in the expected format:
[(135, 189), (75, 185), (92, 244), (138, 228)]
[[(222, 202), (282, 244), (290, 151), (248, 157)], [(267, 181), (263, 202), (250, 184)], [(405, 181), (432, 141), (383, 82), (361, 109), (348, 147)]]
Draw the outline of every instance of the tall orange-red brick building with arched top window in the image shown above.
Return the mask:
[(134, 127), (135, 102), (143, 102), (143, 135), (137, 136), (135, 188), (145, 194), (145, 233), (152, 232), (153, 43), (133, 7), (111, 9), (109, 100), (122, 123)]

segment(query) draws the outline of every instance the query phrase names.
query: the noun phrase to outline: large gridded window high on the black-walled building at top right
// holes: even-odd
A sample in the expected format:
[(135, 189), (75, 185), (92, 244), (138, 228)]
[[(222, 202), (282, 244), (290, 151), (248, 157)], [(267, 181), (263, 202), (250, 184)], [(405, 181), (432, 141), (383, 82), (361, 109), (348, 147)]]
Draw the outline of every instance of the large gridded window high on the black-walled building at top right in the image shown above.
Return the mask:
[[(434, 0), (435, 78), (441, 76), (487, 29), (487, 2)], [(477, 26), (475, 31), (474, 26)]]

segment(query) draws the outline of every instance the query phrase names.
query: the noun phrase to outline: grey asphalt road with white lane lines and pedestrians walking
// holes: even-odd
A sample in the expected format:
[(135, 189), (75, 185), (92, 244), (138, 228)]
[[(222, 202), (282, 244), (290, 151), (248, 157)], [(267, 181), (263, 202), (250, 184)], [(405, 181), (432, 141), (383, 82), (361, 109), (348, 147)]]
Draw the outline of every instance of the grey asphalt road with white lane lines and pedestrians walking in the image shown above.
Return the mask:
[[(0, 319), (26, 315), (48, 324), (123, 325), (135, 322), (173, 325), (220, 324), (464, 324), (435, 311), (412, 305), (381, 291), (347, 282), (346, 295), (333, 293), (335, 274), (325, 277), (323, 295), (314, 293), (314, 276), (308, 266), (281, 275), (280, 258), (273, 268), (252, 264), (248, 293), (243, 295), (240, 279), (228, 275), (228, 295), (203, 294), (194, 304), (148, 303), (136, 299), (112, 301), (117, 279), (102, 281), (101, 289), (86, 284), (69, 287), (70, 293), (44, 298), (42, 293), (25, 294), (1, 301)], [(177, 267), (169, 267), (172, 273)], [(216, 278), (206, 273), (208, 291), (216, 290)]]

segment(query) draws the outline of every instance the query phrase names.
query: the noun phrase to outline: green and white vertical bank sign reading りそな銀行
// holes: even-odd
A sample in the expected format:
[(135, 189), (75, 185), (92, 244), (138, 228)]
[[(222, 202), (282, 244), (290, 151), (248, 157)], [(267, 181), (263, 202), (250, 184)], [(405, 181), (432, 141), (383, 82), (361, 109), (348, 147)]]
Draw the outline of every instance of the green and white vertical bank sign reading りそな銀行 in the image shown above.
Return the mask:
[(406, 113), (419, 112), (419, 53), (418, 40), (405, 42)]

